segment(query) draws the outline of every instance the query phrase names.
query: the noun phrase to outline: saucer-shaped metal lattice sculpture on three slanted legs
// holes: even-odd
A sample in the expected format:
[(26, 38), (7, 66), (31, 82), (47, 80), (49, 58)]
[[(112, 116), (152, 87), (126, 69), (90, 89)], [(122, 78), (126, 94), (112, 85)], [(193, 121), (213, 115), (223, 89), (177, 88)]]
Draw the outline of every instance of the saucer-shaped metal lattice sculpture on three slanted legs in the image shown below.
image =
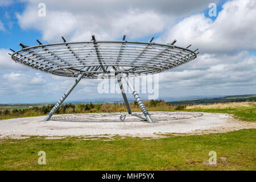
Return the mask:
[(176, 40), (170, 44), (153, 43), (154, 38), (150, 42), (129, 42), (123, 36), (122, 41), (96, 41), (95, 36), (92, 35), (90, 42), (68, 43), (63, 37), (61, 38), (64, 43), (42, 44), (36, 40), (38, 46), (28, 47), (20, 43), (22, 49), (19, 51), (11, 49), (14, 52), (11, 58), (16, 63), (53, 75), (77, 77), (76, 82), (61, 97), (44, 121), (48, 121), (59, 109), (81, 78), (106, 78), (106, 75), (109, 75), (106, 73), (114, 69), (114, 77), (117, 77), (129, 114), (131, 110), (122, 88), (121, 78), (127, 82), (147, 121), (154, 122), (128, 76), (163, 72), (188, 63), (199, 53), (196, 52), (197, 49), (195, 51), (188, 49), (191, 45), (187, 48), (174, 46)]

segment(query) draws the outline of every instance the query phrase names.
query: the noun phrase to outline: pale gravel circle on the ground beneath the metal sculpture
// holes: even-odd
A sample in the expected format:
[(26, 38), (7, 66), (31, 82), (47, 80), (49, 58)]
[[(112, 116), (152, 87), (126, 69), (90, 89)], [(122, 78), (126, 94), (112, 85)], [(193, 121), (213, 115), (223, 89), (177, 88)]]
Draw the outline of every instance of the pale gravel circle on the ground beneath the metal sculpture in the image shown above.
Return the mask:
[(191, 133), (227, 125), (228, 114), (195, 112), (150, 112), (158, 123), (143, 122), (143, 114), (88, 113), (54, 115), (51, 121), (43, 117), (14, 118), (0, 121), (1, 137), (14, 135), (85, 136), (132, 135), (150, 136), (163, 133)]

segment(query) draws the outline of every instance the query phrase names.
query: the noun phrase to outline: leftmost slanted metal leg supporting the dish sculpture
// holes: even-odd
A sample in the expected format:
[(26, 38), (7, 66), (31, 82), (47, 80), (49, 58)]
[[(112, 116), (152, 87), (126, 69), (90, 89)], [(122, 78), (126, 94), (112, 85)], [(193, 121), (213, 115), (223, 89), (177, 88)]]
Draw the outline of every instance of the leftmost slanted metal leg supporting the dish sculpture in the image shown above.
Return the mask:
[(48, 121), (49, 118), (52, 117), (52, 115), (56, 112), (57, 109), (59, 109), (60, 105), (63, 103), (63, 101), (68, 97), (69, 93), (72, 92), (72, 90), (75, 88), (75, 86), (79, 83), (81, 78), (84, 76), (84, 73), (80, 73), (80, 75), (76, 78), (75, 82), (71, 87), (67, 90), (66, 93), (60, 98), (60, 100), (55, 104), (55, 106), (52, 108), (52, 110), (49, 112), (49, 114), (44, 118), (44, 121)]

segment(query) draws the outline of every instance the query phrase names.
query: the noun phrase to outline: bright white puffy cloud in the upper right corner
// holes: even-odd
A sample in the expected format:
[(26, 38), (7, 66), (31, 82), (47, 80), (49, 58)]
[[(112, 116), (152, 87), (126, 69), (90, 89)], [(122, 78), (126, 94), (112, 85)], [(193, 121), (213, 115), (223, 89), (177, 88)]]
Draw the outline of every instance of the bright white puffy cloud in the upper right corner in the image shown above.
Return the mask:
[(256, 50), (256, 1), (233, 0), (224, 3), (216, 20), (204, 14), (191, 15), (167, 30), (159, 42), (174, 39), (182, 46), (196, 45), (208, 53)]

